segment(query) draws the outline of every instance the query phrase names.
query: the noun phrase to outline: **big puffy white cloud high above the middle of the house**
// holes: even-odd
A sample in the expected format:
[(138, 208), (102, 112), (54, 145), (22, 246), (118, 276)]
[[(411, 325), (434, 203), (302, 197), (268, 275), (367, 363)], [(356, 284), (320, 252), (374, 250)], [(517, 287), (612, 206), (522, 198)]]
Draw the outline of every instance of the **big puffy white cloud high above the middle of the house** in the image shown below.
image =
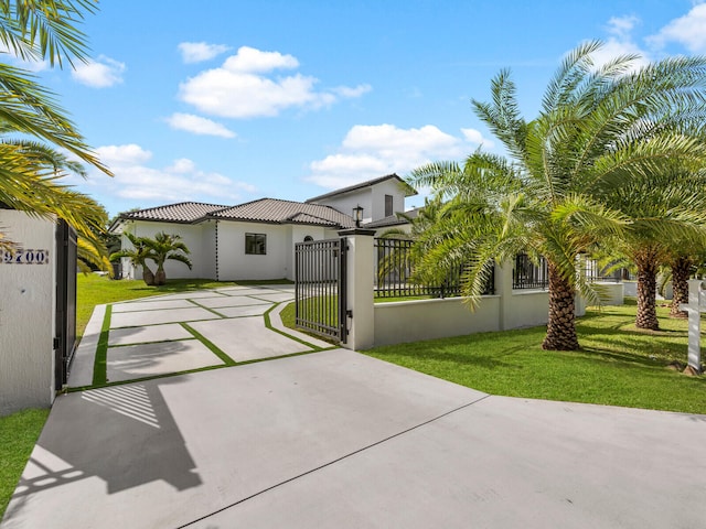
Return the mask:
[(299, 61), (279, 52), (243, 46), (218, 68), (201, 72), (180, 85), (179, 97), (200, 111), (226, 118), (277, 116), (287, 108), (320, 108), (342, 97), (360, 97), (368, 85), (317, 90), (319, 80), (293, 73), (274, 76), (278, 69), (295, 69)]

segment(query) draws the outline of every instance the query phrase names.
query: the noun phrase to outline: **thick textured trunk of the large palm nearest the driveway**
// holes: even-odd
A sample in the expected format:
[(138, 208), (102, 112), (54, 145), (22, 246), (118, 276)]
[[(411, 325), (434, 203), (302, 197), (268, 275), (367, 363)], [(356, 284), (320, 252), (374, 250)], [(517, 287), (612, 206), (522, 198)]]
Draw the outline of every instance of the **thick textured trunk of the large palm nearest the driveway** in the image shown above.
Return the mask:
[(543, 349), (577, 350), (575, 295), (576, 289), (564, 278), (556, 267), (549, 268), (549, 322), (547, 335), (542, 343)]

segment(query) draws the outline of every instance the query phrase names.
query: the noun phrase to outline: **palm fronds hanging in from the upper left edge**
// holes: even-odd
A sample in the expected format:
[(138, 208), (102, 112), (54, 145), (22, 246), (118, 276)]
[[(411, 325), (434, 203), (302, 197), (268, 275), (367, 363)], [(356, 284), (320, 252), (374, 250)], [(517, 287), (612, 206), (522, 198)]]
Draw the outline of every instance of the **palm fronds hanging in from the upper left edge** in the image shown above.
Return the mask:
[[(90, 0), (0, 2), (0, 42), (20, 58), (46, 60), (52, 66), (61, 67), (64, 61), (73, 64), (74, 58), (85, 61), (85, 35), (76, 23), (95, 9)], [(41, 142), (10, 139), (0, 143), (0, 203), (46, 218), (56, 215), (79, 234), (90, 233), (99, 217), (95, 201), (61, 183), (76, 170), (75, 162), (64, 156), (58, 165), (49, 163), (42, 150), (53, 150), (54, 158), (58, 149), (66, 150), (108, 175), (110, 171), (90, 151), (51, 91), (35, 83), (31, 73), (0, 63), (0, 134), (9, 132)], [(105, 253), (100, 247), (94, 250)]]

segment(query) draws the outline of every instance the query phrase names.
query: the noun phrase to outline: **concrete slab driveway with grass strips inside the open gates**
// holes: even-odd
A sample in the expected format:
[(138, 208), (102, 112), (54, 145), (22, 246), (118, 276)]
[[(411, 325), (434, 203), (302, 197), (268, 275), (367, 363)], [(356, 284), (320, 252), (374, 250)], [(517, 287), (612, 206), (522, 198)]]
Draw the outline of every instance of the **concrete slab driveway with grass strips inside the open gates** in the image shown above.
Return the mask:
[(201, 290), (97, 306), (76, 350), (68, 387), (93, 385), (104, 330), (107, 382), (332, 348), (281, 325), (278, 314), (293, 299), (292, 284), (277, 284)]

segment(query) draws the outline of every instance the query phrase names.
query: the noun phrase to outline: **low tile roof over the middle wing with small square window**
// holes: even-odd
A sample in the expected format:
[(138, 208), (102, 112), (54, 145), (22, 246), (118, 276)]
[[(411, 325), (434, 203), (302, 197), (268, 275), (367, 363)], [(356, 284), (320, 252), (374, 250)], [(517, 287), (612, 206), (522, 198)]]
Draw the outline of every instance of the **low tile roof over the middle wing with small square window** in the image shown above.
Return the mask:
[(355, 222), (350, 215), (345, 215), (330, 206), (280, 201), (278, 198), (260, 198), (259, 201), (210, 213), (207, 217), (250, 223), (306, 224), (334, 228), (352, 228), (355, 226)]

